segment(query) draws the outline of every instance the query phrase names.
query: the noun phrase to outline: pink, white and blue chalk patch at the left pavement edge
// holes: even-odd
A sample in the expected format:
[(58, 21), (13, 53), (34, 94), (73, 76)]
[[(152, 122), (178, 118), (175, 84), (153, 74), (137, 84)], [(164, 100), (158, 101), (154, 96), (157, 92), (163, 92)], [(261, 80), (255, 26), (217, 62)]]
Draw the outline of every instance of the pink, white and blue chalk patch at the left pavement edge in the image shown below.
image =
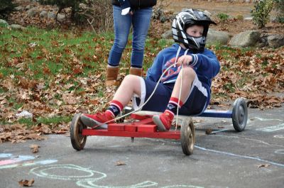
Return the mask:
[(13, 155), (11, 153), (0, 153), (0, 170), (12, 167), (26, 167), (32, 165), (48, 165), (58, 160), (36, 160), (32, 155)]

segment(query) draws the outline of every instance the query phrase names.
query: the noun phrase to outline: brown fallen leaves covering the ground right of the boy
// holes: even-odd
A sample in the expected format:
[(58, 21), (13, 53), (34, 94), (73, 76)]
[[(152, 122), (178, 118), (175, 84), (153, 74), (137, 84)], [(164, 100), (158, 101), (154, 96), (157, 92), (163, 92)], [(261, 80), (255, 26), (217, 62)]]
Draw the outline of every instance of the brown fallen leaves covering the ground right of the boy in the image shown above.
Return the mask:
[(244, 97), (251, 108), (270, 109), (283, 104), (284, 50), (253, 49), (225, 50), (230, 58), (223, 58), (224, 49), (217, 50), (222, 70), (212, 82), (211, 104)]

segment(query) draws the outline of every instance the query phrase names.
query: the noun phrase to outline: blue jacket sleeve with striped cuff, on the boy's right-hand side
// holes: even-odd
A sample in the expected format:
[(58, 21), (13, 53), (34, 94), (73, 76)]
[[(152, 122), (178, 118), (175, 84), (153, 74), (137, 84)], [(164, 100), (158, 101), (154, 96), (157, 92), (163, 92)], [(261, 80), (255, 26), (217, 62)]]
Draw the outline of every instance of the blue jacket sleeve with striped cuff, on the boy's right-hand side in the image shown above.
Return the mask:
[(212, 79), (220, 70), (220, 63), (214, 54), (210, 50), (204, 50), (203, 53), (192, 54), (192, 67), (195, 67), (197, 71), (202, 72), (204, 77)]

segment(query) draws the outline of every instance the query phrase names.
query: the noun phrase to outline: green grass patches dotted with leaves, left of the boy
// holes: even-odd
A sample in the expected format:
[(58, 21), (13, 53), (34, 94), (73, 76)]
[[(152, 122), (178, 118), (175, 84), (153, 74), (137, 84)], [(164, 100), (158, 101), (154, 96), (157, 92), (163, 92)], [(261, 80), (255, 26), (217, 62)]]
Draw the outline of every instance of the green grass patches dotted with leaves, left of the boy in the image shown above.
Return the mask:
[[(46, 31), (44, 29), (28, 27), (24, 31), (12, 30), (0, 27), (0, 81), (12, 80), (15, 85), (30, 87), (26, 83), (23, 86), (23, 79), (28, 82), (42, 83), (46, 92), (51, 88), (60, 88), (62, 91), (53, 95), (54, 100), (62, 99), (61, 92), (75, 92), (81, 94), (84, 88), (80, 85), (79, 79), (89, 75), (101, 74), (107, 65), (109, 50), (113, 44), (114, 34), (94, 34), (90, 32), (58, 31), (56, 29)], [(167, 40), (148, 38), (146, 41), (146, 53), (144, 58), (144, 70), (151, 66), (153, 57), (165, 46), (169, 45)], [(131, 38), (126, 46), (124, 55), (121, 58), (121, 67), (129, 67), (131, 54)], [(128, 73), (128, 69), (122, 69)], [(66, 77), (58, 82), (58, 77)], [(100, 79), (104, 79), (102, 74)], [(21, 86), (22, 84), (22, 86)], [(64, 84), (71, 84), (71, 87), (62, 87)], [(32, 87), (34, 87), (32, 85)], [(34, 89), (31, 90), (35, 90)], [(98, 86), (94, 98), (105, 97), (102, 86)], [(0, 88), (0, 94), (9, 101), (9, 106), (14, 111), (24, 108), (24, 101), (20, 101)], [(35, 97), (35, 98), (34, 98)], [(36, 97), (40, 97), (37, 99)], [(48, 102), (44, 96), (31, 96), (31, 99), (40, 100), (41, 103)], [(65, 103), (63, 103), (65, 104)], [(50, 104), (56, 108), (56, 104)], [(35, 123), (62, 123), (69, 122), (71, 116), (60, 117), (38, 117), (36, 122), (30, 118), (21, 118), (19, 123), (32, 126)], [(1, 120), (1, 123), (9, 123)]]

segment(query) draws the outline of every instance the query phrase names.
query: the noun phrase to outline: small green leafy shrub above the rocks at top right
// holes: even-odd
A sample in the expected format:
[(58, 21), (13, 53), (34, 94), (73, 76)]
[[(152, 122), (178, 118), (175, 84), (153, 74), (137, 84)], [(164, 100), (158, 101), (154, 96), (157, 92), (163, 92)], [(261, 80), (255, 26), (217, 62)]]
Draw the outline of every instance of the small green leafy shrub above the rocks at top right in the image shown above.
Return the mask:
[(254, 3), (254, 7), (251, 10), (253, 16), (253, 23), (258, 28), (263, 28), (269, 21), (271, 10), (273, 9), (273, 0), (261, 0)]

